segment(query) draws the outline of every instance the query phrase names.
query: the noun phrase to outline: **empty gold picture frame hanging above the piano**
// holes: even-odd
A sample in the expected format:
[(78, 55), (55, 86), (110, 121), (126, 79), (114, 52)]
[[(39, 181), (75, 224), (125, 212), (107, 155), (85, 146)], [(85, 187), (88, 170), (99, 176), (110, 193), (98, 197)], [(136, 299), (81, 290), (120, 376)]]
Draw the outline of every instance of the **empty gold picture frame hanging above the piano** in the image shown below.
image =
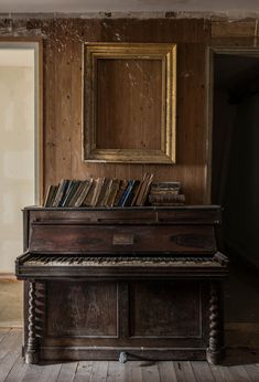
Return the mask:
[[(118, 64), (118, 65), (117, 65)], [(144, 115), (141, 115), (141, 120), (136, 120), (138, 128), (141, 125), (144, 130), (145, 137), (149, 136), (149, 110), (158, 116), (158, 121), (153, 123), (152, 129), (153, 144), (147, 147), (145, 142), (141, 141), (142, 147), (137, 144), (138, 137), (134, 138), (134, 142), (130, 147), (112, 147), (120, 146), (118, 142), (110, 144), (111, 147), (106, 147), (105, 138), (101, 137), (101, 132), (98, 129), (102, 129), (106, 125), (105, 115), (101, 113), (101, 108), (105, 110), (112, 108), (117, 102), (109, 105), (109, 94), (112, 93), (112, 81), (110, 75), (101, 73), (101, 67), (105, 65), (123, 65), (121, 67), (133, 67), (132, 64), (138, 65), (141, 70), (140, 75), (148, 75), (149, 79), (152, 79), (153, 72), (150, 74), (143, 73), (145, 66), (157, 67), (157, 72), (160, 73), (157, 76), (157, 84), (159, 92), (153, 89), (152, 94), (159, 93), (158, 105), (152, 105), (144, 109)], [(153, 65), (153, 66), (152, 66)], [(115, 66), (115, 67), (117, 67)], [(141, 67), (143, 66), (143, 67)], [(114, 67), (116, 77), (116, 70)], [(120, 67), (120, 66), (119, 66)], [(118, 67), (117, 67), (118, 68)], [(104, 71), (104, 70), (102, 70)], [(86, 162), (136, 162), (136, 163), (175, 163), (175, 102), (176, 102), (176, 44), (169, 43), (85, 43), (84, 44), (84, 127), (83, 127), (83, 159)], [(142, 73), (142, 74), (141, 74)], [(118, 71), (117, 71), (118, 74)], [(130, 76), (130, 73), (129, 73)], [(105, 78), (105, 79), (104, 79)], [(102, 85), (107, 78), (107, 84)], [(159, 78), (159, 79), (158, 79)], [(142, 82), (144, 82), (143, 78)], [(145, 81), (147, 82), (147, 81)], [(151, 83), (150, 83), (151, 84)], [(109, 85), (109, 86), (108, 86)], [(123, 86), (123, 81), (118, 86)], [(136, 84), (138, 86), (138, 82)], [(102, 86), (102, 89), (108, 89), (108, 96), (98, 95), (98, 89)], [(106, 87), (104, 87), (106, 86)], [(145, 85), (144, 85), (145, 86)], [(150, 87), (150, 85), (147, 85)], [(149, 89), (149, 87), (144, 87)], [(129, 87), (129, 86), (128, 86)], [(127, 100), (127, 88), (122, 89), (125, 100)], [(99, 91), (100, 92), (100, 91)], [(149, 91), (147, 91), (149, 92)], [(114, 92), (116, 93), (116, 91)], [(117, 91), (118, 93), (118, 91)], [(160, 94), (161, 93), (161, 94)], [(136, 94), (134, 94), (136, 95)], [(131, 96), (131, 104), (134, 103), (132, 108), (138, 107), (141, 99)], [(144, 94), (140, 95), (144, 97)], [(98, 98), (99, 97), (99, 98)], [(114, 95), (116, 98), (116, 96)], [(147, 97), (145, 97), (147, 98)], [(98, 99), (101, 99), (100, 102)], [(133, 99), (133, 100), (132, 100)], [(151, 99), (152, 100), (152, 99)], [(120, 96), (118, 103), (121, 103)], [(101, 103), (101, 107), (99, 104)], [(108, 105), (106, 105), (106, 103)], [(127, 107), (127, 106), (126, 106)], [(100, 108), (100, 109), (98, 109)], [(128, 112), (128, 109), (126, 109)], [(152, 114), (151, 113), (151, 114)], [(114, 116), (114, 120), (116, 116)], [(126, 116), (127, 118), (127, 116)], [(138, 118), (137, 118), (138, 119)], [(101, 121), (99, 121), (101, 120)], [(126, 120), (126, 119), (125, 119)], [(144, 120), (144, 123), (143, 123)], [(153, 121), (153, 119), (152, 119)], [(101, 124), (101, 128), (98, 126)], [(108, 121), (107, 121), (108, 124)], [(121, 119), (120, 124), (123, 124)], [(116, 137), (116, 131), (120, 129), (122, 125), (119, 123), (110, 123), (106, 129), (109, 129), (109, 136)], [(131, 125), (132, 126), (132, 125)], [(112, 131), (115, 128), (115, 131)], [(136, 131), (136, 129), (134, 129)], [(129, 134), (129, 135), (128, 135)], [(136, 135), (136, 132), (134, 132)], [(127, 136), (130, 137), (130, 131), (127, 131)], [(98, 142), (98, 139), (101, 142)], [(158, 144), (155, 144), (155, 141)], [(155, 147), (155, 145), (158, 147)]]

